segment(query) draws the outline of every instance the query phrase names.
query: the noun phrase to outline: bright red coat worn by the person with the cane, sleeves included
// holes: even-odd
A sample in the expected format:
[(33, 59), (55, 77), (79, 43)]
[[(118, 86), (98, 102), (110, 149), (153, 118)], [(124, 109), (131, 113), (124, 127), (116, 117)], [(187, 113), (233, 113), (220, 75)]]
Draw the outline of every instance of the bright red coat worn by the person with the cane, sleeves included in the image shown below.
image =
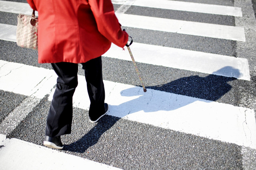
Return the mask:
[(85, 63), (128, 41), (111, 0), (27, 1), (38, 11), (39, 63)]

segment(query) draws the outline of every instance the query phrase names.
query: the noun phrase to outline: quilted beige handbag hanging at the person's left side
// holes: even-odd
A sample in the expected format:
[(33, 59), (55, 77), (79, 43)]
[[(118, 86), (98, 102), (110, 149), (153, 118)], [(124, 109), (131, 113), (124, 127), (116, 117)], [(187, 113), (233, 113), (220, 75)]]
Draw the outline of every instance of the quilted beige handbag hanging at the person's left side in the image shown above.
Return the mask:
[(38, 50), (38, 17), (19, 14), (16, 31), (16, 42), (20, 47)]

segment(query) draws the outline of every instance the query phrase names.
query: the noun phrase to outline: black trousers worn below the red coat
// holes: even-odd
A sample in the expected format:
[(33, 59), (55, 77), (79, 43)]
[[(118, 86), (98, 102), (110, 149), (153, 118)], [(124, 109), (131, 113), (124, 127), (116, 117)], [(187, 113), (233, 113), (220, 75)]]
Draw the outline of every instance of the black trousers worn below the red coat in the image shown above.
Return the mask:
[[(52, 63), (58, 75), (56, 89), (46, 120), (45, 135), (56, 137), (71, 133), (72, 98), (78, 85), (78, 64)], [(89, 116), (93, 119), (104, 113), (105, 90), (102, 80), (101, 57), (82, 63), (90, 98)]]

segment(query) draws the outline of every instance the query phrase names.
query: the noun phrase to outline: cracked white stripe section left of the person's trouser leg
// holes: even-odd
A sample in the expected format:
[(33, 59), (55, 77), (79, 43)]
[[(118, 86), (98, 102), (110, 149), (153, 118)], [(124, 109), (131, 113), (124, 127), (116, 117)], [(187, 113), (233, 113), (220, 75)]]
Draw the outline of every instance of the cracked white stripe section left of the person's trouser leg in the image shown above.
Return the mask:
[(54, 70), (0, 60), (1, 90), (42, 99), (56, 84), (56, 78)]

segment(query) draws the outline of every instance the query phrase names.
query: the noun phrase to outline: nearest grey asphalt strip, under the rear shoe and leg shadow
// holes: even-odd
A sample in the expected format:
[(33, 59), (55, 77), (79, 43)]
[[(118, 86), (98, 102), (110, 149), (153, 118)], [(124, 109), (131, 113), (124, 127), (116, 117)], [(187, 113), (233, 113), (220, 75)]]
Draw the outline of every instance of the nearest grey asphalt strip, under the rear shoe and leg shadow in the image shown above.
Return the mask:
[[(7, 137), (42, 145), (49, 107), (46, 96)], [(72, 133), (62, 137), (62, 152), (126, 170), (242, 169), (238, 145), (110, 115), (92, 124), (88, 111), (73, 110)]]

